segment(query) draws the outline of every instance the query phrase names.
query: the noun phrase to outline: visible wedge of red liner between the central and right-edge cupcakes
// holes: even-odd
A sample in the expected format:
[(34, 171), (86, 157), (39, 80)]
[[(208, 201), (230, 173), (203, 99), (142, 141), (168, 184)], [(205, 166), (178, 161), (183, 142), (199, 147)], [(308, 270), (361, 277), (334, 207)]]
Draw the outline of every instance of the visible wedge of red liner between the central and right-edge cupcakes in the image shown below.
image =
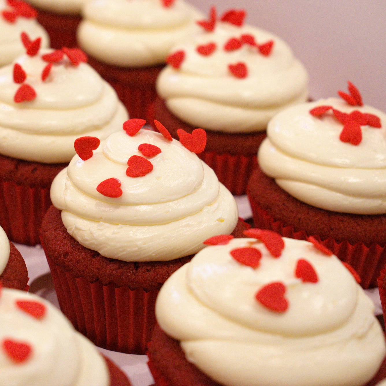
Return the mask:
[(220, 181), (233, 195), (243, 195), (252, 171), (257, 166), (257, 156), (218, 154), (202, 152), (197, 154), (213, 171)]

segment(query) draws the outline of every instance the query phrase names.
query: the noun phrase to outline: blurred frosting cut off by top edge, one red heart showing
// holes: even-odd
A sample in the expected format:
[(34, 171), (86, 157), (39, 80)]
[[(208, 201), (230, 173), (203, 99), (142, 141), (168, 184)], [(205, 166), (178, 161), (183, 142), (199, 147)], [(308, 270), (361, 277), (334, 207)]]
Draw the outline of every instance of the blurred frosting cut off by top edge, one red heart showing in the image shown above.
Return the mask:
[(80, 46), (123, 67), (165, 63), (177, 41), (198, 31), (202, 16), (183, 0), (91, 0), (83, 7)]

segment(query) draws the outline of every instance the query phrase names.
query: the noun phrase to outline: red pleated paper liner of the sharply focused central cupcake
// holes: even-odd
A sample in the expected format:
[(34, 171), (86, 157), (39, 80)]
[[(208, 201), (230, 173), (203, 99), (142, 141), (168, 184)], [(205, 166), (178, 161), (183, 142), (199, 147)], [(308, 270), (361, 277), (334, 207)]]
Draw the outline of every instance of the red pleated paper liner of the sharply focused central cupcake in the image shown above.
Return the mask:
[(158, 289), (145, 292), (129, 286), (115, 288), (76, 278), (48, 256), (60, 308), (76, 330), (95, 345), (128, 354), (144, 354), (156, 322)]

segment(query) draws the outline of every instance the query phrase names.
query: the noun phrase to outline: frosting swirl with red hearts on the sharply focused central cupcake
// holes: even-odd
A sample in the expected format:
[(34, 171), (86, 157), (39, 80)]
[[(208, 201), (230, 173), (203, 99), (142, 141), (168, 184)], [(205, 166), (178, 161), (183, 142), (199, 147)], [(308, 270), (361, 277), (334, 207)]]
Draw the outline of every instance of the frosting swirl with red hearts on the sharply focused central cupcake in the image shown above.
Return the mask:
[(230, 234), (237, 223), (231, 193), (195, 154), (206, 135), (196, 129), (181, 142), (141, 129), (132, 119), (98, 146), (75, 143), (77, 155), (51, 186), (68, 233), (102, 256), (124, 261), (168, 261), (198, 252), (208, 235)]

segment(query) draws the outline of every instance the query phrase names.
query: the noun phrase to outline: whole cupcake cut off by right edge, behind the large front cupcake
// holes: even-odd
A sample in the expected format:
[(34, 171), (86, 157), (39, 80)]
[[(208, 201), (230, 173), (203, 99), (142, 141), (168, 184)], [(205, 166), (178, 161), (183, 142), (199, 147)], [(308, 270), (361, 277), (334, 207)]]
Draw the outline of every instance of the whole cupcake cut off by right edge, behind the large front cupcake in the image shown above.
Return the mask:
[(287, 108), (268, 125), (247, 193), (256, 227), (320, 240), (376, 287), (386, 264), (386, 115), (349, 93)]

